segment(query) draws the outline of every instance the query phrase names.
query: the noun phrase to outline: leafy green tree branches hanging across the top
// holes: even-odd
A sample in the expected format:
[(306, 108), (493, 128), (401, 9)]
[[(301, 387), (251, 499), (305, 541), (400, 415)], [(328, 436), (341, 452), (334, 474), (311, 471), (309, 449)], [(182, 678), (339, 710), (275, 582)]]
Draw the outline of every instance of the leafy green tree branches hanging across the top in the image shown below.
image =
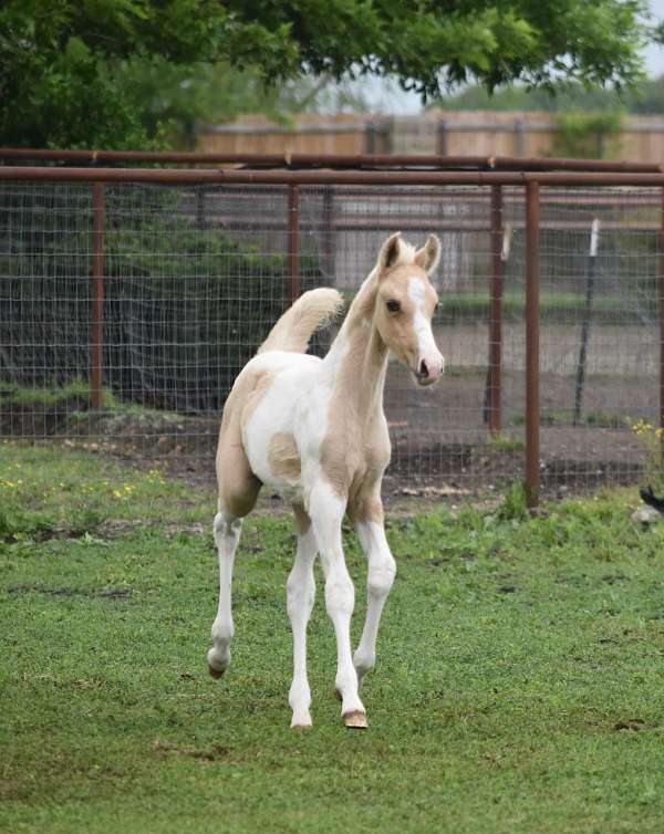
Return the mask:
[(221, 62), (268, 85), (394, 75), (424, 100), (468, 81), (621, 88), (655, 37), (646, 15), (645, 0), (6, 0), (0, 142), (158, 143), (127, 82), (141, 62)]

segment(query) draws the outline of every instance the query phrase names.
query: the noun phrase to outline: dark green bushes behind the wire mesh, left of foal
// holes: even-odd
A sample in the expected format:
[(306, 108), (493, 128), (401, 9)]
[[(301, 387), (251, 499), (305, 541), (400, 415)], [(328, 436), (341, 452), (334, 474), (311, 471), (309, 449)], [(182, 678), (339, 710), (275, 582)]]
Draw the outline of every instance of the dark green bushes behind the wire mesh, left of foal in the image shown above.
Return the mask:
[[(25, 211), (27, 199), (6, 189), (0, 217)], [(199, 205), (195, 191), (193, 199), (169, 188), (107, 189), (104, 384), (123, 400), (218, 410), (289, 305), (287, 258), (209, 226)], [(90, 189), (40, 189), (31, 222), (0, 253), (11, 299), (3, 325), (8, 382), (52, 388), (86, 376), (90, 264)], [(303, 290), (320, 284), (317, 259), (302, 258), (301, 279)]]

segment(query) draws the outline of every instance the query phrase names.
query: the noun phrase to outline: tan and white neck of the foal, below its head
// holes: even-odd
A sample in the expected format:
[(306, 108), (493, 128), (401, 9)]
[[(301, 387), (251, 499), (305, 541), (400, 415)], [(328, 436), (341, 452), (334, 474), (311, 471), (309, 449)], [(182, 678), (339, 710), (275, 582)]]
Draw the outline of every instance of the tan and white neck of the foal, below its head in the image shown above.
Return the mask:
[(333, 375), (335, 394), (362, 418), (382, 411), (387, 369), (387, 346), (373, 321), (376, 292), (372, 274), (362, 284), (324, 359)]

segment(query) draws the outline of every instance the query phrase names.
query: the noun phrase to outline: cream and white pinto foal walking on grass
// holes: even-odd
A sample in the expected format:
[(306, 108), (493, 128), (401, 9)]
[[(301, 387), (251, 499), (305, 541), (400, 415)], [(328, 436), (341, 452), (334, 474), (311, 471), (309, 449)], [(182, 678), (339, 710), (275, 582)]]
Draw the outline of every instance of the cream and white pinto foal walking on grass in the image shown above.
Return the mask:
[[(294, 666), (291, 727), (311, 726), (307, 624), (315, 593), (317, 553), (336, 635), (341, 715), (346, 727), (366, 727), (359, 689), (375, 661), (381, 613), (396, 572), (381, 501), (391, 452), (383, 413), (387, 354), (392, 351), (418, 385), (432, 385), (442, 374), (444, 359), (430, 326), (438, 299), (429, 282), (439, 258), (440, 242), (433, 234), (418, 251), (401, 233), (390, 237), (323, 359), (304, 351), (311, 334), (343, 302), (336, 290), (304, 293), (277, 322), (226, 400), (217, 449), (219, 512), (214, 528), (219, 609), (208, 667), (217, 678), (230, 664), (234, 557), (241, 518), (251, 512), (264, 483), (292, 503), (298, 530), (288, 578)], [(366, 622), (354, 655), (350, 636), (354, 587), (341, 540), (344, 513), (369, 562)]]

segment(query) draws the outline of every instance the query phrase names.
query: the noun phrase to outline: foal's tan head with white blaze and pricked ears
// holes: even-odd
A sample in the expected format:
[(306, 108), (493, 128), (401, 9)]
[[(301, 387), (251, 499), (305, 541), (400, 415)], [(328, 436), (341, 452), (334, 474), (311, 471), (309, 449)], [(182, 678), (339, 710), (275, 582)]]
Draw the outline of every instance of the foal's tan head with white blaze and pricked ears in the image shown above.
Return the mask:
[(438, 295), (429, 275), (439, 260), (440, 241), (435, 234), (416, 251), (397, 232), (383, 243), (375, 268), (374, 322), (383, 342), (413, 372), (418, 385), (433, 385), (445, 365), (432, 333)]

